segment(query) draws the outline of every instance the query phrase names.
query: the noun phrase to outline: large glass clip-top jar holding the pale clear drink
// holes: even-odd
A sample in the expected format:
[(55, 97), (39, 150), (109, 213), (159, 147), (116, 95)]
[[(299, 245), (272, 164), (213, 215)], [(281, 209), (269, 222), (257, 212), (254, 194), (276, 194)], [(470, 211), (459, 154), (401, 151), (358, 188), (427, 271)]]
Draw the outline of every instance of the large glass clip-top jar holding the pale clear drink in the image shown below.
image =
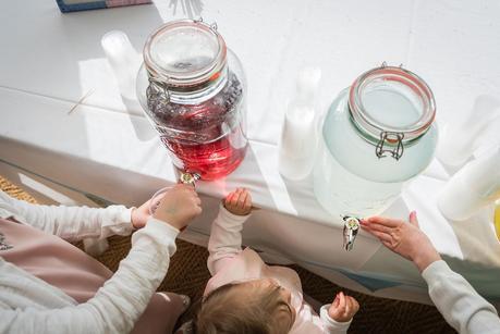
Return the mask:
[(427, 84), (401, 67), (362, 74), (332, 102), (320, 129), (314, 191), (332, 214), (387, 209), (432, 160), (436, 104)]

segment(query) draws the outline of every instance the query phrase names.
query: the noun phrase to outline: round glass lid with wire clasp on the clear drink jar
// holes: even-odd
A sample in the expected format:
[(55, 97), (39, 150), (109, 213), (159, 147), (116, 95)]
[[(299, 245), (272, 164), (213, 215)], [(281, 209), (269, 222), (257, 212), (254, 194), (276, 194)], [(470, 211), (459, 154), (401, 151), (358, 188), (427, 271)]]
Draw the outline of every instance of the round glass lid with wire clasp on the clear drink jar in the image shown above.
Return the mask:
[(424, 79), (407, 70), (383, 63), (353, 83), (349, 110), (364, 138), (379, 149), (379, 158), (383, 157), (385, 146), (393, 146), (395, 149), (389, 151), (399, 159), (403, 145), (424, 135), (432, 124), (436, 102)]

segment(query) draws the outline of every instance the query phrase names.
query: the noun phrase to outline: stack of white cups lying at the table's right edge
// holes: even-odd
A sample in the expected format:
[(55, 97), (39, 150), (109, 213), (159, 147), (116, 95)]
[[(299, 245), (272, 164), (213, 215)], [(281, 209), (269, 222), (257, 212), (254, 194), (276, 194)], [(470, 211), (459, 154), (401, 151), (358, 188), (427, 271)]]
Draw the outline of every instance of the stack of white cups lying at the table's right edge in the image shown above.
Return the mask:
[(468, 162), (447, 183), (438, 198), (441, 213), (462, 221), (500, 198), (500, 147)]

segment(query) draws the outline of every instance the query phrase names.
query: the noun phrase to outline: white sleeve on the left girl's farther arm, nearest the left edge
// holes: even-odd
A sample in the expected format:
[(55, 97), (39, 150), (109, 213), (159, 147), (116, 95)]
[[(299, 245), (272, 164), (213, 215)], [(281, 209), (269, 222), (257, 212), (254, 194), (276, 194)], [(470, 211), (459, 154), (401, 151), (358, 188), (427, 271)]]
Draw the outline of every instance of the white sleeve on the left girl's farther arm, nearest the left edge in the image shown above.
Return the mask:
[(87, 237), (106, 238), (130, 235), (132, 209), (110, 206), (106, 209), (88, 207), (39, 206), (19, 200), (1, 193), (1, 200), (22, 218), (22, 222), (66, 240)]

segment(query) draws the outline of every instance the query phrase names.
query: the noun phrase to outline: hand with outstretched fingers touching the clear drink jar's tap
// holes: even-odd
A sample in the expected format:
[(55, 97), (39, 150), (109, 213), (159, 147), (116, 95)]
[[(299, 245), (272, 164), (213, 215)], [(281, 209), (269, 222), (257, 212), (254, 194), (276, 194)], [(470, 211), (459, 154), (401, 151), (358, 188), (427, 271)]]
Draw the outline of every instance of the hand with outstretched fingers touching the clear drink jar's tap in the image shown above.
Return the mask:
[(410, 223), (402, 220), (371, 217), (361, 221), (390, 250), (412, 261), (423, 272), (430, 263), (441, 259), (427, 235), (418, 227), (416, 212), (410, 213)]

